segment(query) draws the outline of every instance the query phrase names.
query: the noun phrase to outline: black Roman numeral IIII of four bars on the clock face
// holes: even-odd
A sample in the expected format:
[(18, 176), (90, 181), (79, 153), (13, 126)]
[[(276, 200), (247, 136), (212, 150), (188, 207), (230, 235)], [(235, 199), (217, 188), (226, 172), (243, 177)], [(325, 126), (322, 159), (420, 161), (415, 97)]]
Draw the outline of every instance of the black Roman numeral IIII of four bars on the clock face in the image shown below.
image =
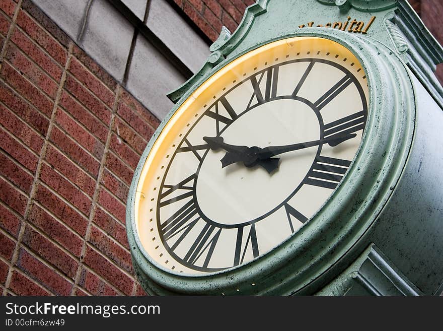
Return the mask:
[(351, 161), (317, 156), (305, 184), (334, 189), (349, 168)]

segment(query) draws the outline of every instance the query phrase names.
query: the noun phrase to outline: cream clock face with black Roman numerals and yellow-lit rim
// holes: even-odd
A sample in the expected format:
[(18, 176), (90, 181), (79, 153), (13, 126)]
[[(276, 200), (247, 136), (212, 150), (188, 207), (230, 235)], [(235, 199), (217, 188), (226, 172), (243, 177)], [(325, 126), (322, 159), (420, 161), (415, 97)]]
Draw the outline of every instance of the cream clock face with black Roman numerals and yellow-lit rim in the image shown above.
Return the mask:
[(322, 38), (272, 42), (220, 69), (169, 119), (142, 167), (135, 225), (147, 257), (171, 273), (207, 274), (297, 236), (345, 180), (367, 95), (356, 57)]

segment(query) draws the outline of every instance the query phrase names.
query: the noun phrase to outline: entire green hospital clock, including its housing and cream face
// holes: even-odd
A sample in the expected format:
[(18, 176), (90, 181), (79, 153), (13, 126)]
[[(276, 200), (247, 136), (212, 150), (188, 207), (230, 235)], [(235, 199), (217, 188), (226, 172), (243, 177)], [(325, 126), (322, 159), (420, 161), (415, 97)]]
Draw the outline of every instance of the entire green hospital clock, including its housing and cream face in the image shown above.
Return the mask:
[(259, 1), (220, 35), (170, 94), (131, 183), (126, 230), (147, 293), (439, 293), (443, 101), (423, 85), (428, 64), (404, 53), (391, 20), (412, 14), (396, 4), (302, 6), (318, 22), (362, 17), (371, 36), (294, 29), (306, 19), (292, 0)]

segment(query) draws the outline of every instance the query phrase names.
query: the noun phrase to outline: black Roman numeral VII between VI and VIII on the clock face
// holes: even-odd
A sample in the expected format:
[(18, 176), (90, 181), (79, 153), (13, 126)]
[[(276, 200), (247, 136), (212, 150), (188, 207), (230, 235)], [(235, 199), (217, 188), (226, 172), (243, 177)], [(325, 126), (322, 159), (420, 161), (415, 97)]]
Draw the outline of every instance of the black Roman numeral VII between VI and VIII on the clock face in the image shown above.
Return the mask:
[(207, 251), (203, 262), (203, 268), (207, 268), (218, 238), (220, 237), (220, 233), (220, 228), (216, 228), (215, 226), (206, 223), (193, 242), (191, 248), (189, 248), (188, 252), (186, 253), (184, 260), (188, 263), (195, 264), (200, 256)]

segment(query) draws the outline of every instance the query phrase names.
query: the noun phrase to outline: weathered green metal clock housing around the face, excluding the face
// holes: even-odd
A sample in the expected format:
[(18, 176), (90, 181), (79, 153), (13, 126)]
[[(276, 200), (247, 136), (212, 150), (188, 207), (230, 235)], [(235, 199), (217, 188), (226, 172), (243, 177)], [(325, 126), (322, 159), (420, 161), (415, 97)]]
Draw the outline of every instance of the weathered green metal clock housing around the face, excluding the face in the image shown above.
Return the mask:
[[(226, 30), (220, 35), (202, 69), (170, 94), (176, 106), (141, 156), (126, 210), (134, 269), (148, 293), (313, 294), (343, 275), (372, 243), (388, 256), (404, 275), (401, 277), (418, 288), (417, 293), (434, 294), (441, 284), (443, 157), (433, 149), (438, 148), (437, 141), (441, 142), (443, 112), (441, 86), (432, 71), (443, 59), (443, 51), (406, 2), (354, 0), (349, 6), (343, 6), (343, 1), (337, 3), (259, 0), (248, 8), (232, 36)], [(365, 22), (377, 16), (378, 21), (366, 35), (331, 28), (295, 28), (306, 24), (307, 17), (324, 23), (344, 21), (347, 16)], [(412, 36), (414, 27), (422, 31), (421, 37), (406, 36), (397, 25), (400, 18), (408, 22)], [(389, 23), (387, 27), (386, 20), (394, 27)], [(309, 223), (262, 257), (204, 277), (165, 272), (147, 256), (133, 231), (135, 187), (151, 147), (180, 104), (214, 72), (251, 49), (292, 36), (340, 42), (355, 54), (366, 72), (369, 117), (348, 174)], [(434, 189), (425, 193), (414, 190), (429, 185)], [(335, 292), (326, 288), (321, 293)]]

